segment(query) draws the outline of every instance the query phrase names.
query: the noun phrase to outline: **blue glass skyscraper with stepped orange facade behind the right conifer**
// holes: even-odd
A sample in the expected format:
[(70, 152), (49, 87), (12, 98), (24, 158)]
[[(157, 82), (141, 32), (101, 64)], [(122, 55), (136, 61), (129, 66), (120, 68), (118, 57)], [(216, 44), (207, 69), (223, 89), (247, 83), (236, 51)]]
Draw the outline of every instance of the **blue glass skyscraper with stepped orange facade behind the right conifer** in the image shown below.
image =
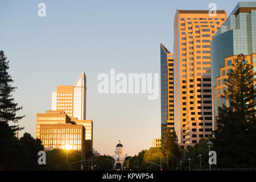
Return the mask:
[(216, 121), (218, 106), (229, 107), (229, 101), (221, 98), (221, 94), (226, 90), (225, 78), (228, 78), (227, 73), (232, 69), (234, 58), (243, 53), (247, 63), (254, 65), (253, 70), (256, 72), (256, 2), (238, 2), (214, 35), (211, 52), (213, 110)]

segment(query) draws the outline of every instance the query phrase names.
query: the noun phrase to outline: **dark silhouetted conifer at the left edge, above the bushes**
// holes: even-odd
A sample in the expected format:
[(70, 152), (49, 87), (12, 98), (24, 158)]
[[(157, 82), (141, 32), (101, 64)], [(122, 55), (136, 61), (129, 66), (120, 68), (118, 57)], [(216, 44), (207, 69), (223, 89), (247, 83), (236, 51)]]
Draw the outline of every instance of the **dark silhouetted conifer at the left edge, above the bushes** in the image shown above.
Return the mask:
[[(22, 107), (18, 107), (18, 103), (14, 102), (12, 93), (16, 87), (11, 86), (13, 79), (7, 72), (9, 69), (9, 61), (5, 57), (5, 53), (0, 51), (0, 122), (14, 122), (18, 123), (20, 119), (24, 117), (16, 115), (16, 112), (21, 110)], [(13, 131), (22, 130), (19, 125), (9, 126)]]

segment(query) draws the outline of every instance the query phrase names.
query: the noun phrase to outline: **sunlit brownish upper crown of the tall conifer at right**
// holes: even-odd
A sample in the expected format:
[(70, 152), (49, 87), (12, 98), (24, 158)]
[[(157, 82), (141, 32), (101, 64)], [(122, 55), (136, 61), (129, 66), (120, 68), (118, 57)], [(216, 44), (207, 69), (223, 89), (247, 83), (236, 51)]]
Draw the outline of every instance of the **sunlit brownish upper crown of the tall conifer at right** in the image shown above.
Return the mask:
[(228, 73), (229, 78), (225, 80), (228, 89), (224, 95), (228, 97), (232, 109), (241, 115), (243, 124), (254, 122), (256, 92), (253, 65), (247, 64), (245, 55), (241, 54), (234, 59), (232, 66), (232, 71)]

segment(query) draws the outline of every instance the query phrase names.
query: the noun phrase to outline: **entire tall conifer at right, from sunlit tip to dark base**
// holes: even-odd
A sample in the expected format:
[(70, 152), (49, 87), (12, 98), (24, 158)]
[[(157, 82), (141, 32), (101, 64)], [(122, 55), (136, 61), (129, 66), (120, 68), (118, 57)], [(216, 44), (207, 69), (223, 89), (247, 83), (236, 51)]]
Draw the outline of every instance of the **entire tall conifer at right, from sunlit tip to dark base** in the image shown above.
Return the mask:
[(245, 56), (234, 59), (232, 72), (226, 80), (230, 107), (218, 108), (217, 130), (214, 131), (214, 150), (220, 168), (255, 167), (255, 88), (253, 67)]

